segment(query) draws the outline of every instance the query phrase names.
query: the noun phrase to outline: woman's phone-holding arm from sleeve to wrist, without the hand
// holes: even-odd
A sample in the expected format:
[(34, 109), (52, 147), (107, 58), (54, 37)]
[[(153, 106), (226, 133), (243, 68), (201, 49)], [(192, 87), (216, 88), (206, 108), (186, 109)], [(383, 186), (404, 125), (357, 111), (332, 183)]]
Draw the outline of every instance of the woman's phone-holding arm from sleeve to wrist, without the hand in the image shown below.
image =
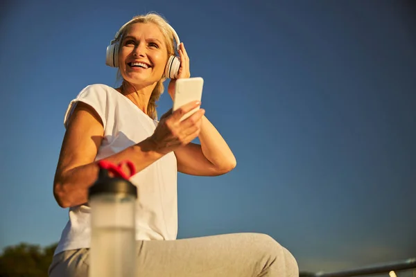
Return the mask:
[[(103, 132), (103, 124), (96, 111), (78, 102), (64, 135), (53, 182), (53, 195), (62, 208), (88, 201), (88, 188), (98, 177), (98, 161), (94, 162), (94, 159), (103, 140)], [(146, 139), (105, 159), (112, 163), (129, 159), (139, 171), (163, 156), (153, 149), (153, 141)]]

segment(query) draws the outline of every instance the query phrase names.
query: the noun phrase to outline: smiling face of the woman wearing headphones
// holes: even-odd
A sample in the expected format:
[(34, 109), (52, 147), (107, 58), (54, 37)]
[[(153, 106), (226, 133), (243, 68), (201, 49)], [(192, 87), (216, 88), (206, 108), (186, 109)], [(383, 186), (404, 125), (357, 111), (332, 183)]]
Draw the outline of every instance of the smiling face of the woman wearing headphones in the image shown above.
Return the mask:
[(123, 79), (139, 86), (158, 82), (168, 51), (162, 32), (153, 23), (135, 23), (120, 44), (119, 69)]

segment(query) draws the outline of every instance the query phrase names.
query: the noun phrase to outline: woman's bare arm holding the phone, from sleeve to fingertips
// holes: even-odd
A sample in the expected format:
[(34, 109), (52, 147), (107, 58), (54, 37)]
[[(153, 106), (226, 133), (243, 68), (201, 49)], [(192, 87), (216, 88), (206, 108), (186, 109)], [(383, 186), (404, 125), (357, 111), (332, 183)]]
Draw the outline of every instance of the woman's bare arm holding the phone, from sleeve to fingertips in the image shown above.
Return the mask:
[[(152, 136), (105, 159), (116, 164), (128, 159), (139, 172), (168, 152), (187, 145), (200, 132), (197, 123), (202, 114), (196, 113), (182, 123), (180, 118), (197, 106), (198, 103), (189, 103), (172, 114), (167, 113)], [(62, 208), (88, 201), (88, 188), (98, 177), (98, 161), (94, 162), (94, 159), (103, 133), (103, 123), (96, 111), (78, 102), (64, 135), (53, 181), (53, 195)]]

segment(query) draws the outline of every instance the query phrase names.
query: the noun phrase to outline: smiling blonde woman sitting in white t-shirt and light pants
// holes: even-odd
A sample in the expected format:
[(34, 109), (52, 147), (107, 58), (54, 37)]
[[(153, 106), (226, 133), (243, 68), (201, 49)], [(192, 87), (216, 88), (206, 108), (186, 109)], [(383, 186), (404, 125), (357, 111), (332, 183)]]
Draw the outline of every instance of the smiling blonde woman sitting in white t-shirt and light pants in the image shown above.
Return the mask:
[[(87, 189), (97, 162), (130, 160), (137, 199), (138, 276), (298, 276), (291, 253), (268, 235), (241, 233), (176, 240), (177, 172), (223, 175), (236, 166), (232, 151), (199, 109), (180, 122), (191, 102), (155, 119), (164, 90), (168, 57), (175, 55), (173, 30), (156, 14), (135, 17), (119, 34), (117, 66), (123, 78), (113, 89), (93, 84), (72, 100), (64, 125), (53, 193), (69, 222), (55, 250), (50, 276), (87, 276), (89, 206)], [(189, 78), (189, 57), (179, 47), (177, 78)], [(175, 80), (168, 93), (173, 98)], [(200, 139), (200, 145), (191, 141)]]

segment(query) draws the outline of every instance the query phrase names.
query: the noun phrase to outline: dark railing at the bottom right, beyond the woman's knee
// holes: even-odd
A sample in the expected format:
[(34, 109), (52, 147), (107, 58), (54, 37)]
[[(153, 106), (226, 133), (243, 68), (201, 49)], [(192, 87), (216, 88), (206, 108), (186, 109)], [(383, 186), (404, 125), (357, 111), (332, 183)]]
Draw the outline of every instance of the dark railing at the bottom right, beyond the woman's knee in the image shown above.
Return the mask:
[[(367, 276), (374, 274), (388, 274), (390, 271), (404, 271), (404, 270), (416, 270), (416, 258), (410, 258), (407, 260), (401, 260), (399, 262), (389, 262), (383, 265), (373, 265), (370, 267), (361, 267), (357, 269), (349, 269), (336, 272), (300, 272), (300, 277), (355, 277), (355, 276)], [(415, 274), (414, 274), (415, 276)]]

